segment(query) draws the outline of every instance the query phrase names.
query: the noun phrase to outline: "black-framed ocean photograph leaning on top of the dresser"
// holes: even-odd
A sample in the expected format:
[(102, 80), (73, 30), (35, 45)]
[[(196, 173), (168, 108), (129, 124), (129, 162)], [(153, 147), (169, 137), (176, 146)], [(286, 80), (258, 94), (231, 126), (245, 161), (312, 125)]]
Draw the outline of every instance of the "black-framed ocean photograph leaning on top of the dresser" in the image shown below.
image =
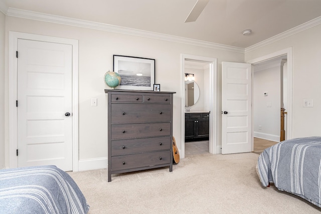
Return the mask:
[(155, 60), (113, 55), (113, 70), (120, 75), (117, 89), (153, 90), (155, 83)]

